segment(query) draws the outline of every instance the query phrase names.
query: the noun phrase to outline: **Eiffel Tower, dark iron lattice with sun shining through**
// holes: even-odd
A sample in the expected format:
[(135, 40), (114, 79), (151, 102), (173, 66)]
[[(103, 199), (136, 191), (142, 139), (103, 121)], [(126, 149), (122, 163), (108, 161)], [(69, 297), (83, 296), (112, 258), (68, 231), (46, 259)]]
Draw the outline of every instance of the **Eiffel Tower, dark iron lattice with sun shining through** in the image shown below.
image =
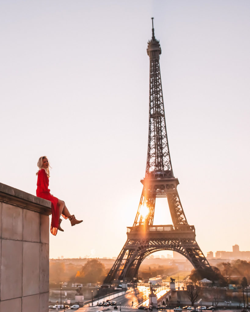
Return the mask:
[[(150, 60), (148, 156), (143, 191), (133, 227), (128, 227), (128, 239), (104, 284), (113, 280), (137, 279), (142, 261), (151, 253), (172, 250), (185, 256), (195, 269), (211, 267), (195, 240), (195, 228), (189, 225), (177, 192), (179, 181), (173, 175), (169, 154), (163, 105), (159, 56), (161, 47), (154, 35), (148, 41)], [(154, 225), (155, 200), (167, 197), (173, 225)], [(212, 269), (211, 269), (212, 270)]]

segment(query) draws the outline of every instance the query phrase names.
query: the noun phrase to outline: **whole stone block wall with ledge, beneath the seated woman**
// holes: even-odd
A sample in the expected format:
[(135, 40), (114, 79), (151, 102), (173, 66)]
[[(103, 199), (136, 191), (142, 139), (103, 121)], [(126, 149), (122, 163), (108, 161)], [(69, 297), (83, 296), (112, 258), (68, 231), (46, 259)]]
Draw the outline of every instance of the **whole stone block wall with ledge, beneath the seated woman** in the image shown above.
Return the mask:
[(47, 312), (51, 203), (0, 183), (0, 311)]

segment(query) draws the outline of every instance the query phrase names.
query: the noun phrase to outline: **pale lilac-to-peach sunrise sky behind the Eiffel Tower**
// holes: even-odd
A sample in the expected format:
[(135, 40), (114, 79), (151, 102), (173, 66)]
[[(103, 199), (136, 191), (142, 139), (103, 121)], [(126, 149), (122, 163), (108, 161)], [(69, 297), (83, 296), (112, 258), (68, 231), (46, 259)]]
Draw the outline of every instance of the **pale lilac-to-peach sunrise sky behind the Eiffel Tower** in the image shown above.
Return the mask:
[[(0, 182), (51, 193), (84, 222), (50, 235), (50, 257), (118, 256), (132, 226), (148, 144), (147, 42), (160, 67), (173, 172), (208, 251), (250, 250), (247, 1), (2, 1)], [(158, 199), (154, 224), (171, 224)], [(160, 252), (162, 254), (162, 252)]]

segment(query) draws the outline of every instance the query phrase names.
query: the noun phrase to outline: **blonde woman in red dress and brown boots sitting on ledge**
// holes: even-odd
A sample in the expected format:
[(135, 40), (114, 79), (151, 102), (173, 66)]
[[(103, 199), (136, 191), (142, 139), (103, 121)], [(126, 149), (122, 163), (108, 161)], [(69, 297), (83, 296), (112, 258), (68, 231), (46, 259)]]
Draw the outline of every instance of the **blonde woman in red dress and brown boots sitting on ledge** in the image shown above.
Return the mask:
[(52, 212), (52, 220), (50, 225), (50, 232), (53, 235), (57, 235), (57, 230), (62, 231), (63, 229), (60, 227), (62, 219), (60, 216), (62, 215), (64, 219), (69, 219), (71, 225), (76, 225), (78, 223), (83, 222), (83, 220), (76, 220), (74, 215), (71, 215), (68, 211), (68, 208), (65, 206), (65, 202), (54, 197), (49, 192), (49, 162), (46, 156), (42, 156), (38, 159), (37, 166), (39, 170), (37, 171), (37, 197), (41, 197), (47, 199), (51, 202), (51, 212)]

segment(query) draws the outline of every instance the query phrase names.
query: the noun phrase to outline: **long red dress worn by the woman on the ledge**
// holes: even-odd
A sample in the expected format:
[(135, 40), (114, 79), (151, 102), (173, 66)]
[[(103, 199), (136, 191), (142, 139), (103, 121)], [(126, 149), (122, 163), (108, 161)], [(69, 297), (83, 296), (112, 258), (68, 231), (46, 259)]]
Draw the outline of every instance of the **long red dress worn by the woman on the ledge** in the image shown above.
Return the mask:
[[(50, 225), (50, 232), (53, 235), (57, 235), (58, 224), (59, 224), (59, 205), (58, 205), (58, 198), (51, 195), (48, 189), (49, 186), (49, 178), (44, 169), (38, 171), (37, 174), (37, 197), (41, 197), (47, 199), (51, 202), (51, 225)], [(63, 214), (62, 216), (67, 219)]]

